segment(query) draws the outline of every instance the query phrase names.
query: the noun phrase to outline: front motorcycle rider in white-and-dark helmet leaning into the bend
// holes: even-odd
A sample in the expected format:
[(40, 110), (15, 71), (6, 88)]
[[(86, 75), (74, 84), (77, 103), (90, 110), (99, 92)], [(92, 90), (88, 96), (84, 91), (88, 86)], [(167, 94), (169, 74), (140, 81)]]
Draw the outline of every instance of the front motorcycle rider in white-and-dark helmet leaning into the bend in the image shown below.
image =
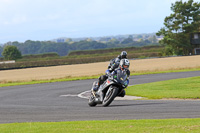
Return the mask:
[[(130, 76), (129, 66), (130, 66), (129, 60), (128, 59), (122, 59), (119, 63), (118, 68), (115, 68), (112, 72), (110, 72), (109, 70), (106, 70), (106, 78), (105, 79), (99, 78), (98, 87), (94, 88), (93, 90), (97, 91), (99, 86), (105, 82), (105, 80), (108, 78), (108, 76), (115, 74), (117, 72), (117, 70), (119, 70), (119, 69), (121, 69), (122, 71), (126, 71), (127, 77), (128, 77), (128, 79), (127, 79), (127, 86), (128, 86), (129, 76)], [(120, 92), (120, 94), (118, 96), (124, 97), (125, 96), (125, 90), (122, 90), (122, 92)]]

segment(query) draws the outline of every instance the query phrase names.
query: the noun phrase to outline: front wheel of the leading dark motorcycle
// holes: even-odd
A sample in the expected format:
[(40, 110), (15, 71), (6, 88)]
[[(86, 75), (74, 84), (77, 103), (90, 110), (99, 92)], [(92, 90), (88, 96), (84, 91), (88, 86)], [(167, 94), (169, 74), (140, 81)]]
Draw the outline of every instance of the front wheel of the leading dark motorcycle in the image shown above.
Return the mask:
[(118, 88), (111, 86), (108, 91), (106, 92), (106, 95), (103, 99), (103, 106), (106, 107), (111, 104), (111, 102), (114, 100), (118, 93)]

